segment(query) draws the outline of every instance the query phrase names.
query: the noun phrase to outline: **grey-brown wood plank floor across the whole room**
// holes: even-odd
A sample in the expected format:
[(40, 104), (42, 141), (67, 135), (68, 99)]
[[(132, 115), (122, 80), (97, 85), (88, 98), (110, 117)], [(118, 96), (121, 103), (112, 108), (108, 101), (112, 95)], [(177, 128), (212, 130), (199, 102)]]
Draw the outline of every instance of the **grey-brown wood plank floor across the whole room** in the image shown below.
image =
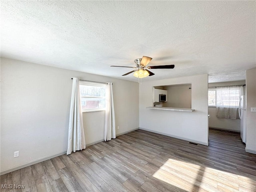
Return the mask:
[(33, 192), (256, 192), (256, 155), (240, 134), (210, 129), (209, 146), (136, 130), (1, 176)]

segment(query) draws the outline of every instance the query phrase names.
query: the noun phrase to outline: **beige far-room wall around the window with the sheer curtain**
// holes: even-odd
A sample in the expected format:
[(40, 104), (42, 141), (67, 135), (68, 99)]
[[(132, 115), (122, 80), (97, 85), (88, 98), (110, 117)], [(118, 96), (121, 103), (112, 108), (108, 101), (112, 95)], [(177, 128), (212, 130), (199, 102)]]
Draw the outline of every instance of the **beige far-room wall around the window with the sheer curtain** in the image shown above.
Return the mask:
[[(209, 83), (209, 87), (218, 87), (218, 86), (233, 86), (233, 85), (244, 85), (244, 81), (232, 81), (232, 82), (220, 82), (220, 83)], [(244, 87), (245, 94), (245, 87)], [(235, 132), (240, 132), (240, 119), (225, 119), (216, 117), (216, 107), (209, 107), (208, 112), (210, 115), (209, 118), (209, 127), (217, 128), (221, 130), (231, 130)]]

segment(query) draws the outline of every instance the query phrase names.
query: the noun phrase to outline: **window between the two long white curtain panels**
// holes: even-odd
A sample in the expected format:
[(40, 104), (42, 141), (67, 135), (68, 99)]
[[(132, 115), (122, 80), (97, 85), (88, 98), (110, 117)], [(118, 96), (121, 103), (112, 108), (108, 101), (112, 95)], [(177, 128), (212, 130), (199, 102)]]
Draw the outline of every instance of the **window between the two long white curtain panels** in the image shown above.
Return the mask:
[(79, 82), (82, 112), (105, 110), (106, 85), (92, 82)]

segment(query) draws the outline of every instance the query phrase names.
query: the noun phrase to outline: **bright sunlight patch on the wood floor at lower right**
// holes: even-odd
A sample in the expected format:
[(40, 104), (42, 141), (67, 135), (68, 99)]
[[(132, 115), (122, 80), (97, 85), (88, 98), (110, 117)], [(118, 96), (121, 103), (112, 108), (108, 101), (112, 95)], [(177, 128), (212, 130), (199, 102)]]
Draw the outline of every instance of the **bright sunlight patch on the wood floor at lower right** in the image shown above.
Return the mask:
[[(246, 177), (196, 164), (168, 159), (153, 174), (167, 184), (176, 186), (186, 191), (203, 190), (234, 190), (238, 191), (243, 187), (243, 182), (250, 184), (247, 187), (255, 188), (256, 180), (254, 176)], [(256, 178), (256, 177), (255, 177)]]

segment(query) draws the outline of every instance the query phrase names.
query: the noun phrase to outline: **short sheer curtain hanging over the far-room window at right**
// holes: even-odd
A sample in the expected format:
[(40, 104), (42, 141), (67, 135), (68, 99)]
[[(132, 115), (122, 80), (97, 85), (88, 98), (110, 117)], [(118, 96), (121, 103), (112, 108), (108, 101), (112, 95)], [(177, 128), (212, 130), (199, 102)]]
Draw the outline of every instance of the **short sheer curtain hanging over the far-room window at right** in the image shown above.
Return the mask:
[(216, 87), (216, 116), (218, 118), (238, 119), (238, 105), (242, 86)]

